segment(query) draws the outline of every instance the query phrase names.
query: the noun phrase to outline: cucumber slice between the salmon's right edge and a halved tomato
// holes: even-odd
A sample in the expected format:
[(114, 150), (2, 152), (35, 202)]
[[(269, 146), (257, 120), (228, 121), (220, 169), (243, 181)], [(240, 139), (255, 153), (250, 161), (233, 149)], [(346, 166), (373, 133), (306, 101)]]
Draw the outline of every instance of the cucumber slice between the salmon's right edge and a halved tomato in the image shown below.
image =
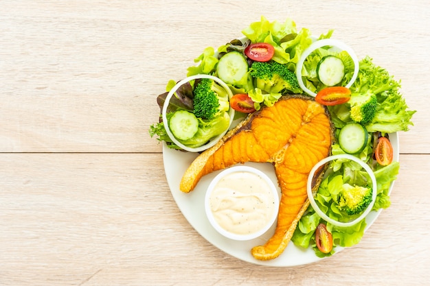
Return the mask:
[(357, 154), (363, 151), (367, 144), (369, 134), (359, 123), (348, 123), (339, 132), (339, 145), (348, 154)]

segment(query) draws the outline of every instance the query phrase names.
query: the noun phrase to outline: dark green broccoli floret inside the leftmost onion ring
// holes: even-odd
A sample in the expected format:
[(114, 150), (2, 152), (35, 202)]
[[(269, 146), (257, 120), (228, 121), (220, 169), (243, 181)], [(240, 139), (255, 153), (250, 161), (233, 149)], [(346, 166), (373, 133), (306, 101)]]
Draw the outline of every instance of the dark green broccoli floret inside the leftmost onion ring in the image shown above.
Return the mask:
[(194, 88), (194, 115), (203, 119), (213, 119), (221, 112), (229, 110), (227, 91), (210, 78), (202, 78)]

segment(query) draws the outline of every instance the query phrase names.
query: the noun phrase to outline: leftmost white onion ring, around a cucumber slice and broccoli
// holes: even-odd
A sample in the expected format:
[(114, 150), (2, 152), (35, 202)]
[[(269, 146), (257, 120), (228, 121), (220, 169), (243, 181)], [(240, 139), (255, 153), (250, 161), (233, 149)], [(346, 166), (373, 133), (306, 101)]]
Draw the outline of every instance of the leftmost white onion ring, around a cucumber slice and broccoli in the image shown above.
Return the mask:
[(181, 147), (183, 150), (186, 150), (188, 152), (202, 152), (212, 146), (214, 146), (216, 143), (218, 143), (218, 141), (220, 141), (221, 138), (223, 138), (223, 136), (225, 135), (225, 133), (229, 130), (231, 123), (233, 122), (234, 119), (234, 109), (230, 108), (229, 109), (229, 117), (230, 117), (230, 122), (229, 122), (229, 127), (226, 128), (224, 130), (223, 133), (219, 134), (218, 136), (212, 138), (208, 143), (206, 143), (205, 145), (202, 145), (200, 147), (188, 147), (186, 145), (183, 145), (183, 143), (179, 142), (178, 139), (176, 139), (176, 137), (172, 134), (172, 131), (169, 128), (168, 125), (168, 119), (166, 116), (167, 113), (167, 109), (168, 109), (168, 105), (170, 102), (170, 99), (172, 98), (172, 96), (174, 96), (174, 93), (178, 90), (178, 88), (180, 88), (183, 84), (186, 84), (187, 82), (190, 82), (192, 80), (196, 80), (199, 78), (210, 78), (212, 80), (214, 80), (215, 82), (217, 82), (220, 86), (222, 86), (225, 91), (227, 91), (229, 98), (231, 98), (233, 96), (233, 93), (231, 93), (231, 90), (229, 88), (229, 86), (227, 86), (227, 84), (225, 82), (223, 82), (222, 80), (220, 80), (219, 78), (214, 77), (213, 75), (192, 75), (188, 78), (185, 78), (183, 80), (181, 80), (180, 82), (178, 82), (168, 93), (167, 97), (166, 97), (166, 102), (164, 102), (163, 104), (163, 109), (161, 110), (161, 116), (163, 117), (163, 122), (166, 122), (164, 124), (164, 128), (166, 129), (166, 132), (168, 134), (168, 136), (170, 137), (170, 139), (172, 139), (172, 141), (178, 145), (179, 147)]

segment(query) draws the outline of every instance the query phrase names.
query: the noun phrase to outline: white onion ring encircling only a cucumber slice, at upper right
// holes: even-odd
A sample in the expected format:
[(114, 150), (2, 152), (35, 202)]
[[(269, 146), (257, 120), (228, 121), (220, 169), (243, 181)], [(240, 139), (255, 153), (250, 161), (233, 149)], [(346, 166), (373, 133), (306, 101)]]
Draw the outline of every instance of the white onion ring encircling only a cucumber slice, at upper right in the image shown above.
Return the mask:
[(349, 47), (348, 45), (346, 45), (345, 43), (343, 43), (339, 40), (335, 40), (335, 39), (331, 39), (331, 38), (326, 38), (323, 40), (317, 40), (316, 42), (312, 43), (302, 53), (302, 56), (300, 56), (299, 61), (297, 62), (297, 66), (295, 68), (295, 75), (297, 76), (297, 82), (299, 82), (299, 86), (302, 88), (302, 90), (305, 93), (307, 93), (308, 95), (313, 96), (313, 97), (317, 96), (317, 94), (310, 91), (309, 88), (307, 88), (304, 85), (304, 82), (302, 79), (302, 68), (303, 68), (304, 61), (306, 60), (306, 58), (308, 58), (310, 53), (315, 51), (315, 49), (319, 49), (320, 47), (325, 47), (325, 46), (337, 47), (343, 51), (346, 51), (350, 55), (350, 57), (352, 58), (352, 61), (354, 62), (354, 74), (352, 75), (350, 82), (348, 82), (348, 84), (346, 84), (345, 87), (350, 88), (352, 86), (352, 84), (355, 82), (355, 80), (357, 79), (357, 76), (359, 75), (359, 69), (360, 69), (359, 59), (357, 58), (356, 54), (354, 53), (354, 50), (351, 47)]

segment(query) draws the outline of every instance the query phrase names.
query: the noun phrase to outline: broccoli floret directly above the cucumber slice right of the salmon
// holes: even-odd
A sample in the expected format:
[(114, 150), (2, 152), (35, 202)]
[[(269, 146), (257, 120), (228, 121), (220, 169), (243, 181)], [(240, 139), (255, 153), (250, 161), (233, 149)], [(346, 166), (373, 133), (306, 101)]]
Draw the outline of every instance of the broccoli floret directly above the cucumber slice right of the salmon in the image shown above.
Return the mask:
[(349, 101), (351, 119), (361, 124), (369, 123), (376, 114), (377, 103), (376, 95), (370, 91), (352, 94)]

